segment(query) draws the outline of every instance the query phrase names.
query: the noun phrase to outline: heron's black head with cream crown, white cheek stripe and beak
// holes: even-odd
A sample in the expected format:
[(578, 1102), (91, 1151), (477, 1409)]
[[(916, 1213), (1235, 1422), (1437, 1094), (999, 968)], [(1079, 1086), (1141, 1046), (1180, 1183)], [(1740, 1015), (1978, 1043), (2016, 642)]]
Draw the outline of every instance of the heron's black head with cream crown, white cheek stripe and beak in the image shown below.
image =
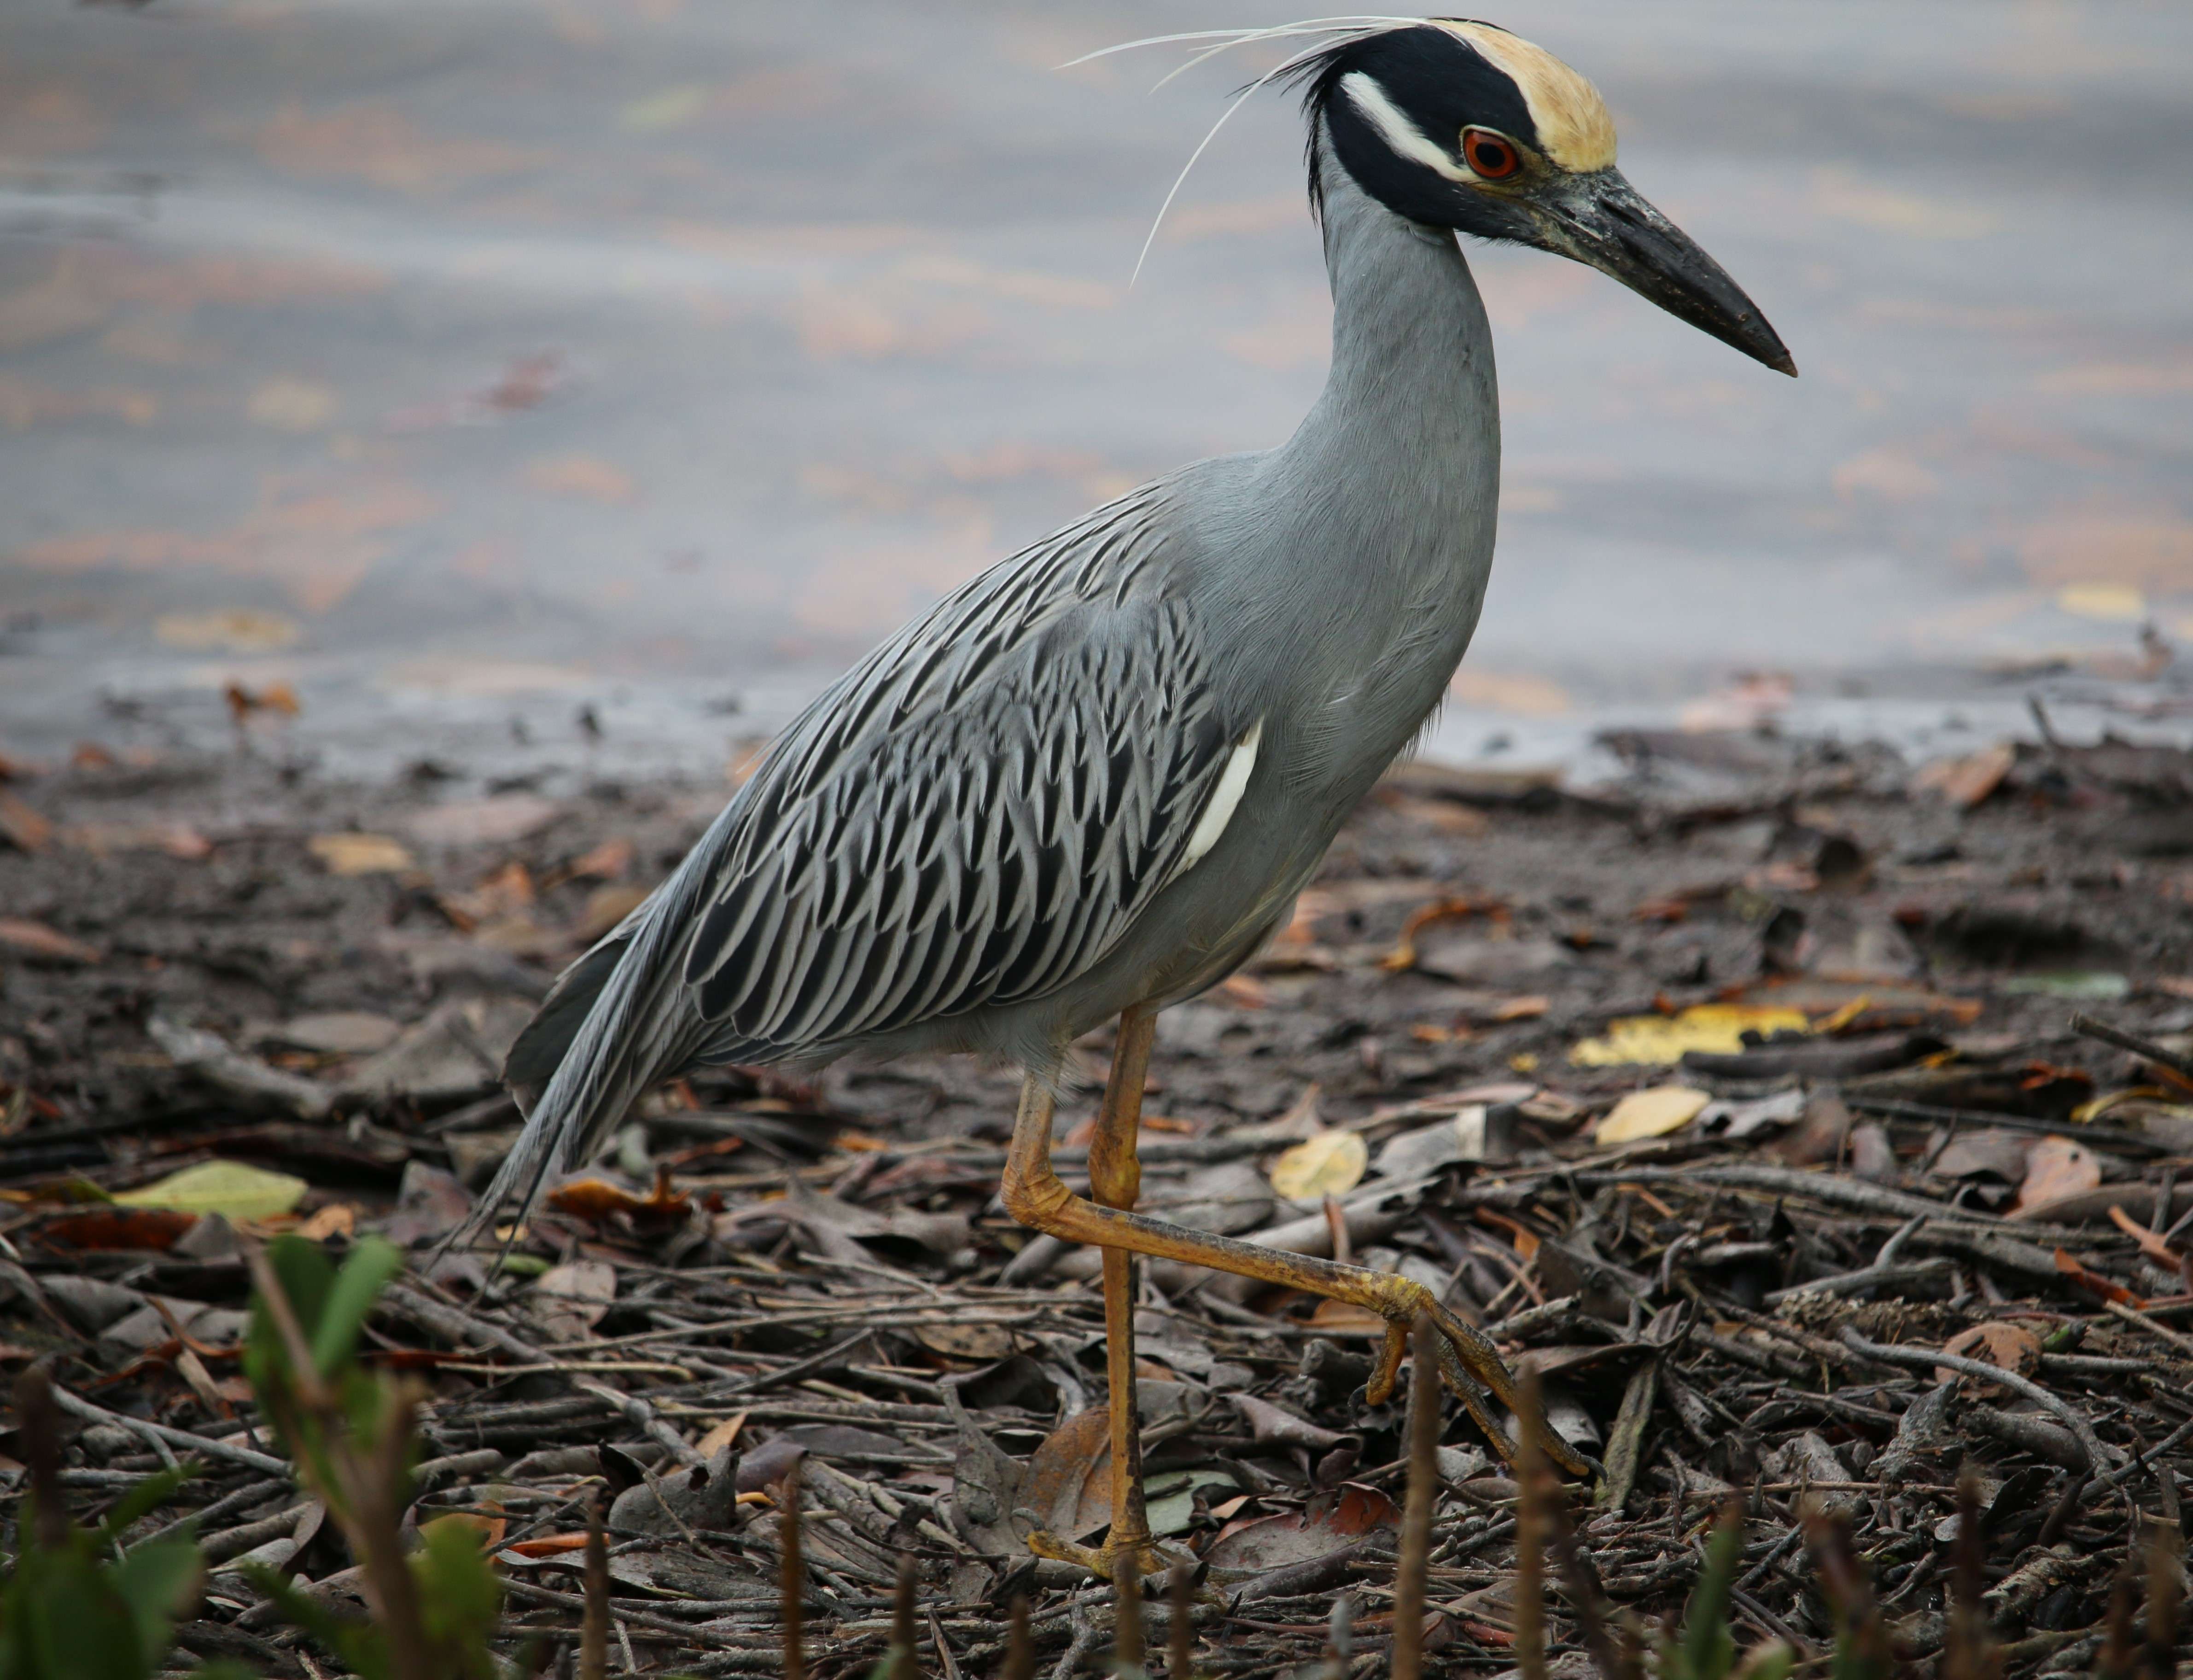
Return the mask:
[(1322, 123), (1340, 167), (1395, 215), (1572, 257), (1796, 375), (1759, 305), (1614, 167), (1605, 101), (1546, 48), (1432, 18), (1353, 35), (1305, 70), (1311, 171)]

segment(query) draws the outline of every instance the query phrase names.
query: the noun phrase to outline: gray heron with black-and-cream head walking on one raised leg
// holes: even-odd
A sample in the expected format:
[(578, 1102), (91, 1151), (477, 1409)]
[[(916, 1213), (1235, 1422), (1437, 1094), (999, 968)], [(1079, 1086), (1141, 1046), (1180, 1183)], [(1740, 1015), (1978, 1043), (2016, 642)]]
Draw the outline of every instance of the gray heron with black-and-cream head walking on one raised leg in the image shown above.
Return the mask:
[[(1103, 1250), (1112, 1441), (1103, 1544), (1029, 1544), (1099, 1573), (1156, 1566), (1136, 1257), (1379, 1314), (1373, 1406), (1430, 1320), (1447, 1388), (1498, 1450), (1504, 1408), (1566, 1472), (1592, 1469), (1425, 1285), (1136, 1213), (1151, 1033), (1289, 921), (1469, 647), (1500, 397), (1461, 235), (1588, 263), (1796, 373), (1759, 307), (1623, 178), (1603, 99), (1553, 53), (1445, 18), (1261, 35), (1300, 33), (1281, 70), (1303, 90), (1333, 298), (1309, 415), (1274, 450), (1180, 467), (991, 566), (809, 704), (518, 1037), (504, 1079), (526, 1123), (476, 1215), (522, 1211), (638, 1094), (695, 1068), (917, 1051), (1018, 1064), (1002, 1200)], [(1053, 1114), (1072, 1044), (1107, 1022), (1077, 1195), (1053, 1171)]]

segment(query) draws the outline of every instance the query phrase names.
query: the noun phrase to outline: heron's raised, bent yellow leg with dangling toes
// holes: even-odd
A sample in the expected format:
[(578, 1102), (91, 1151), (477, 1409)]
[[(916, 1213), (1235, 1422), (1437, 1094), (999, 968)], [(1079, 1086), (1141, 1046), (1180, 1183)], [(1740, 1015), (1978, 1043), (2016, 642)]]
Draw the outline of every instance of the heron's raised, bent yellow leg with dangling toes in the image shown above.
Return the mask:
[[(1125, 1026), (1121, 1035), (1125, 1037)], [(1114, 1075), (1116, 1072), (1118, 1062), (1114, 1059)], [(1140, 1090), (1140, 1079), (1136, 1081), (1136, 1090)], [(1110, 1108), (1110, 1092), (1105, 1092), (1105, 1101)], [(1215, 1272), (1235, 1272), (1265, 1283), (1283, 1283), (1294, 1290), (1309, 1290), (1311, 1294), (1322, 1294), (1333, 1301), (1368, 1307), (1386, 1320), (1386, 1347), (1379, 1351), (1366, 1395), (1373, 1406), (1384, 1404), (1393, 1395), (1395, 1380), (1401, 1371), (1401, 1353), (1408, 1347), (1408, 1329), (1419, 1316), (1425, 1316), (1439, 1331), (1441, 1375), (1447, 1380), (1447, 1386), (1461, 1395), (1469, 1415), (1478, 1421), (1478, 1428), (1485, 1430), (1487, 1439), (1491, 1439), (1493, 1448), (1507, 1454), (1509, 1441), (1491, 1417), (1487, 1390), (1493, 1399), (1515, 1412), (1518, 1419), (1522, 1419), (1522, 1428), (1537, 1437), (1546, 1456), (1561, 1465), (1561, 1469), (1570, 1476), (1594, 1474), (1597, 1467), (1592, 1461), (1579, 1454), (1572, 1445), (1568, 1445), (1568, 1441), (1546, 1426), (1544, 1410), (1524, 1401), (1513, 1373), (1500, 1358), (1500, 1351), (1474, 1327), (1465, 1325), (1439, 1305), (1439, 1298), (1421, 1283), (1395, 1272), (1371, 1272), (1362, 1265), (1340, 1265), (1336, 1261), (1311, 1259), (1307, 1255), (1281, 1255), (1279, 1250), (1259, 1248), (1257, 1244), (1246, 1244), (1237, 1237), (1217, 1237), (1208, 1230), (1186, 1230), (1182, 1226), (1169, 1226), (1160, 1219), (1149, 1219), (1129, 1208), (1099, 1206), (1096, 1202), (1079, 1197), (1066, 1189), (1066, 1184), (1059, 1182), (1059, 1176), (1050, 1169), (1050, 1090), (1039, 1079), (1031, 1077), (1020, 1092), (1020, 1119), (1013, 1123), (1013, 1147), (1004, 1162), (1004, 1206), (1024, 1226), (1064, 1241), (1094, 1244), (1105, 1250), (1107, 1316), (1112, 1301), (1110, 1265), (1114, 1250), (1154, 1255), (1158, 1259), (1186, 1261), (1191, 1265), (1208, 1265)], [(1094, 1178), (1096, 1151), (1092, 1149), (1092, 1189)], [(1127, 1309), (1132, 1314), (1132, 1303), (1127, 1303)], [(1134, 1369), (1132, 1353), (1127, 1369)], [(1114, 1428), (1116, 1417), (1118, 1415), (1114, 1412)]]

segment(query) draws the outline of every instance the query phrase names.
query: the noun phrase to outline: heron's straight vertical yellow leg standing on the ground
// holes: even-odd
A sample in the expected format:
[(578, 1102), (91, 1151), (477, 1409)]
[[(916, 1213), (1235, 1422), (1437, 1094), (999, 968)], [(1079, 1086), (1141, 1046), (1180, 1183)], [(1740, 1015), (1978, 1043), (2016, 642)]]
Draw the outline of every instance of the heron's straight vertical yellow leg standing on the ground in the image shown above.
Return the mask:
[[(1096, 1206), (1132, 1208), (1143, 1191), (1143, 1162), (1136, 1140), (1143, 1127), (1143, 1081), (1149, 1077), (1149, 1040), (1156, 1015), (1127, 1009), (1118, 1018), (1118, 1040), (1112, 1046), (1112, 1072), (1096, 1110), (1096, 1132), (1090, 1138), (1090, 1197)], [(1044, 1121), (1048, 1125), (1048, 1119)], [(1105, 1388), (1112, 1412), (1112, 1531), (1103, 1546), (1077, 1546), (1048, 1533), (1029, 1535), (1029, 1548), (1042, 1557), (1061, 1557), (1096, 1575), (1132, 1559), (1132, 1568), (1160, 1568), (1149, 1537), (1149, 1516), (1143, 1509), (1143, 1417), (1134, 1395), (1134, 1283), (1136, 1259), (1125, 1248), (1103, 1250), (1103, 1333)]]

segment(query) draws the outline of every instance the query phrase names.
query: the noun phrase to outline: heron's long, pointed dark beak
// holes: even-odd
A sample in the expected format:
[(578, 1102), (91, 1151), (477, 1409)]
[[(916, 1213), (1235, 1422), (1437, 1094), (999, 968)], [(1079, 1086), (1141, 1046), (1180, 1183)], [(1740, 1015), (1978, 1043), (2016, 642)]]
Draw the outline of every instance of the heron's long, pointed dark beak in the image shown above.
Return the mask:
[(1531, 208), (1548, 250), (1612, 274), (1678, 320), (1796, 377), (1796, 362), (1759, 305), (1618, 169), (1572, 175), (1566, 191), (1542, 195)]

